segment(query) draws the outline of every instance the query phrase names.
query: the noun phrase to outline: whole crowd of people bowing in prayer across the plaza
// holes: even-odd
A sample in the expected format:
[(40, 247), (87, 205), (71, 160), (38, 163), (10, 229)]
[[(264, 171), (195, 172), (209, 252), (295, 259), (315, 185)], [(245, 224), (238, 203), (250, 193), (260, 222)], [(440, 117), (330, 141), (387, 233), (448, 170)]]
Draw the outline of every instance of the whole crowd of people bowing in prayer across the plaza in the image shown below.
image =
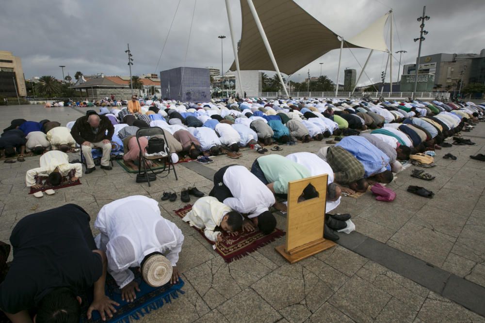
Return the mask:
[[(484, 105), (472, 102), (248, 98), (182, 104), (133, 96), (126, 108), (88, 110), (65, 127), (55, 121), (13, 120), (0, 137), (0, 154), (6, 162), (15, 162), (16, 154), (18, 161), (25, 154), (42, 155), (40, 167), (26, 174), (26, 185), (34, 186), (36, 175), (48, 176), (51, 183), (71, 170), (81, 177), (82, 165), (70, 163), (66, 154), (78, 146), (86, 161), (85, 174), (96, 169), (93, 154), (98, 149), (101, 168), (112, 169), (114, 146), (118, 151), (121, 147), (127, 165), (140, 167), (140, 149), (148, 144), (148, 138), (139, 138), (138, 144), (136, 132), (141, 128), (164, 130), (173, 162), (183, 155), (202, 164), (219, 154), (240, 158), (240, 148), (248, 146), (261, 154), (251, 169), (229, 165), (217, 170), (209, 196), (193, 188), (198, 200), (183, 221), (203, 230), (214, 243), (224, 234), (241, 231), (269, 234), (276, 228), (272, 208), (287, 211), (289, 182), (327, 174), (324, 238), (335, 241), (339, 239), (335, 231), (345, 229), (351, 217), (329, 213), (342, 195), (390, 183), (410, 155), (450, 147), (445, 139), (468, 131), (467, 124), (483, 120), (484, 112)], [(264, 148), (330, 136), (334, 138), (315, 154), (283, 156), (266, 154)], [(298, 200), (317, 195), (308, 185)], [(169, 196), (164, 192), (162, 200)], [(37, 322), (79, 322), (80, 296), (90, 287), (93, 302), (88, 318), (94, 310), (103, 319), (112, 317), (119, 304), (104, 293), (107, 273), (129, 302), (140, 291), (129, 268), (138, 267), (152, 287), (177, 283), (184, 237), (162, 217), (156, 200), (135, 195), (104, 205), (95, 221), (100, 232), (96, 238), (89, 220), (80, 206), (66, 204), (16, 224), (10, 237), (15, 257), (0, 285), (0, 308), (13, 323), (32, 317)], [(164, 265), (170, 270), (156, 272)]]

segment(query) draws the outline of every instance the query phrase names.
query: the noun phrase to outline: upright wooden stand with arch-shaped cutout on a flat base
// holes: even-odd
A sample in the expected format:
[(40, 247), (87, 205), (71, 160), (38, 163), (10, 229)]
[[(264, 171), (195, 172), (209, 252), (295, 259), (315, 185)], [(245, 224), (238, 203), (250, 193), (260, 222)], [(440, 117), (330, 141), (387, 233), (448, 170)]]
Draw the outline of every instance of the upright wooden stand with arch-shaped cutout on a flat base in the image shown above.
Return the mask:
[[(286, 244), (275, 249), (290, 263), (335, 246), (323, 238), (327, 177), (323, 174), (288, 183)], [(318, 197), (298, 202), (309, 184), (315, 187)]]

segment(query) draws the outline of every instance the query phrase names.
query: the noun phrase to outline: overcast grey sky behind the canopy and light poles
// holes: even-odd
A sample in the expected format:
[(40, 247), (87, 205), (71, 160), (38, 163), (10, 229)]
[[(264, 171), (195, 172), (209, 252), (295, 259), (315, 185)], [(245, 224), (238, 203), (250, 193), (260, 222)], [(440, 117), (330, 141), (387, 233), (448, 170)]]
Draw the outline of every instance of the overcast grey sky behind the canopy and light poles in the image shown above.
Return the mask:
[[(224, 70), (234, 60), (224, 0), (180, 0), (180, 6), (168, 37), (158, 68), (163, 43), (167, 38), (178, 0), (1, 0), (0, 50), (12, 51), (22, 59), (26, 78), (53, 75), (62, 78), (59, 65), (65, 65), (65, 75), (76, 71), (84, 75), (129, 75), (125, 49), (127, 43), (134, 58), (133, 75), (159, 73), (161, 70), (184, 65), (221, 66), (221, 41), (224, 34)], [(192, 11), (195, 6), (190, 35)], [(235, 34), (241, 35), (241, 9), (238, 0), (231, 1)], [(277, 0), (275, 0), (277, 1)], [(422, 55), (444, 53), (478, 53), (485, 47), (485, 28), (481, 14), (484, 0), (296, 0), (307, 12), (335, 33), (350, 38), (365, 29), (390, 8), (394, 12), (397, 32), (394, 51), (406, 50), (402, 64), (415, 62), (419, 36), (416, 18), (426, 14), (429, 31), (423, 42)], [(302, 21), (302, 24), (305, 22)], [(399, 35), (399, 37), (398, 37)], [(389, 37), (387, 37), (388, 40)], [(353, 49), (361, 65), (368, 49)], [(301, 81), (307, 69), (311, 76), (322, 74), (336, 80), (339, 50), (333, 50), (294, 73), (291, 80)], [(386, 57), (376, 53), (369, 62), (369, 77), (380, 79)], [(342, 52), (344, 68), (359, 64), (347, 49)], [(398, 70), (398, 63), (394, 71)], [(396, 80), (396, 72), (394, 80)], [(270, 74), (270, 73), (268, 73)], [(343, 82), (343, 72), (340, 74)], [(363, 76), (360, 84), (370, 84)]]

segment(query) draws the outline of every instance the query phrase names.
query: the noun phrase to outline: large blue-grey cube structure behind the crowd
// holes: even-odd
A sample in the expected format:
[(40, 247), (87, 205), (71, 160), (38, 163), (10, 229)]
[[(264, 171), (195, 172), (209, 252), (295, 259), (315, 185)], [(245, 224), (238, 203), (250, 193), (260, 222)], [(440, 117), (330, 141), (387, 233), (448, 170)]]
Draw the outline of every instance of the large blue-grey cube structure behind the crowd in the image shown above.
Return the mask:
[(160, 72), (162, 98), (189, 102), (210, 100), (208, 68), (177, 67)]

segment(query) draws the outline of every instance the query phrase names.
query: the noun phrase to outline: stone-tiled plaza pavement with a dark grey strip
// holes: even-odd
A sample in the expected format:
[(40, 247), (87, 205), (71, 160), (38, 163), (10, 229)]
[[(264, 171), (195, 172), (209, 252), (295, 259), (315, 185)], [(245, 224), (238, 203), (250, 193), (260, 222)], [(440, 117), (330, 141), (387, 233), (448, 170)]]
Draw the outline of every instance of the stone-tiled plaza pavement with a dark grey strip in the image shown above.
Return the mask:
[[(65, 125), (83, 115), (77, 108), (40, 105), (0, 110), (0, 129), (16, 118)], [(377, 201), (370, 192), (342, 197), (334, 212), (350, 213), (356, 232), (341, 233), (338, 246), (292, 265), (275, 251), (284, 238), (227, 264), (174, 213), (186, 205), (179, 198), (182, 188), (196, 186), (208, 194), (215, 170), (235, 163), (249, 168), (260, 156), (252, 150), (237, 160), (217, 156), (208, 165), (178, 164), (178, 181), (171, 173), (151, 187), (135, 183), (135, 174), (114, 163), (111, 171), (97, 168), (82, 176), (82, 185), (41, 199), (28, 195), (25, 186), (25, 173), (38, 167), (38, 157), (0, 163), (0, 240), (7, 242), (25, 215), (76, 203), (93, 226), (106, 203), (145, 195), (159, 201), (162, 216), (185, 236), (178, 262), (185, 294), (140, 322), (485, 322), (485, 163), (469, 158), (485, 154), (485, 124), (462, 134), (476, 145), (436, 151), (437, 166), (426, 169), (435, 180), (412, 178), (409, 167), (388, 185), (397, 193), (392, 202)], [(283, 151), (266, 154), (315, 153), (323, 142), (283, 145)], [(446, 153), (458, 159), (443, 159)], [(424, 186), (435, 197), (408, 193), (408, 185)], [(161, 201), (170, 190), (178, 192), (178, 200)], [(285, 215), (275, 216), (285, 230)]]

